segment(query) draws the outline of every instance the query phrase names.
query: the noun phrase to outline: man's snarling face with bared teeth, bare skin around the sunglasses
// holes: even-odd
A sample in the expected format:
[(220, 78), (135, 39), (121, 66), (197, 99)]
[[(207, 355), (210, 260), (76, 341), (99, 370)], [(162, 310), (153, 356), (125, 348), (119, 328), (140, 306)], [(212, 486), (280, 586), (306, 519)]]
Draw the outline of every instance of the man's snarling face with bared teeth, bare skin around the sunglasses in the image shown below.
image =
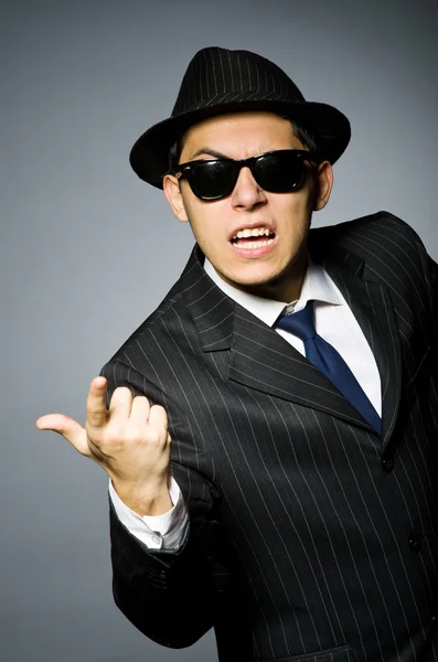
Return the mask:
[[(241, 160), (282, 149), (305, 149), (290, 121), (271, 113), (229, 114), (193, 126), (180, 163), (216, 154)], [(164, 193), (177, 217), (190, 222), (202, 252), (225, 281), (288, 302), (301, 289), (312, 211), (325, 205), (331, 185), (332, 170), (324, 162), (317, 175), (307, 169), (303, 185), (290, 193), (263, 190), (248, 168), (241, 170), (235, 189), (222, 200), (202, 201), (184, 179), (172, 175), (164, 179)]]

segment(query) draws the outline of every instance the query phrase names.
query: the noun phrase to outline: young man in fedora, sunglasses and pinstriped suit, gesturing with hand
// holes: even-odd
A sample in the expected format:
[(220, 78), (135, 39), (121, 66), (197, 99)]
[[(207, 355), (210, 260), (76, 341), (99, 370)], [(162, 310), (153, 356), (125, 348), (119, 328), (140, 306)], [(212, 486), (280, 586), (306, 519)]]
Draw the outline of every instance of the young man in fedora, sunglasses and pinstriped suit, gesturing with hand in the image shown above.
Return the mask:
[(349, 139), (273, 63), (211, 47), (132, 148), (196, 246), (86, 428), (38, 425), (110, 477), (115, 599), (164, 645), (214, 627), (221, 662), (438, 660), (437, 266), (387, 213), (310, 229)]

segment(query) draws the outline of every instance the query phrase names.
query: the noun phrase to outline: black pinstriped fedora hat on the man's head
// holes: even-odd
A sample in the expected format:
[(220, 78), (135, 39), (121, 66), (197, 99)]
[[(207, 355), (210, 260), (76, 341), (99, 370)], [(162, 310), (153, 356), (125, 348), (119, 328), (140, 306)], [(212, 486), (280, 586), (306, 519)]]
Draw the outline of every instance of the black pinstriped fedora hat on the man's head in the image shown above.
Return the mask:
[(138, 177), (162, 189), (169, 150), (194, 124), (245, 110), (269, 110), (299, 121), (313, 137), (321, 158), (334, 163), (346, 148), (346, 117), (328, 104), (306, 102), (279, 66), (249, 51), (210, 46), (190, 62), (171, 117), (148, 129), (130, 152)]

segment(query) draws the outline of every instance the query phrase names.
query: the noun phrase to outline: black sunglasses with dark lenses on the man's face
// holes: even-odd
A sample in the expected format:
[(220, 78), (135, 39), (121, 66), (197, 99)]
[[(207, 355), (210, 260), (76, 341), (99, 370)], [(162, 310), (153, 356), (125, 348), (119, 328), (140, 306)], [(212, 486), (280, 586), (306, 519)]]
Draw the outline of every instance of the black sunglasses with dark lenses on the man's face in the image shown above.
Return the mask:
[(201, 159), (181, 163), (177, 178), (185, 178), (196, 197), (220, 200), (232, 193), (242, 168), (249, 168), (257, 184), (270, 193), (290, 193), (306, 179), (306, 161), (316, 162), (314, 154), (301, 149), (281, 149), (233, 159)]

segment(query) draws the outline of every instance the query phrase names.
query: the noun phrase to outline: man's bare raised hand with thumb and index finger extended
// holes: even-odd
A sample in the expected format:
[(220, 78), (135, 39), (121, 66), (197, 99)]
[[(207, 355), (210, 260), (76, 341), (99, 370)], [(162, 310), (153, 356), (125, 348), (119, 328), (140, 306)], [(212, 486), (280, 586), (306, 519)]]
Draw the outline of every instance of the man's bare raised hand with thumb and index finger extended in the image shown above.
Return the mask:
[(145, 396), (119, 387), (106, 407), (107, 382), (95, 377), (86, 404), (86, 424), (63, 414), (36, 420), (41, 430), (62, 435), (108, 473), (120, 499), (141, 515), (169, 511), (170, 435), (165, 410)]

